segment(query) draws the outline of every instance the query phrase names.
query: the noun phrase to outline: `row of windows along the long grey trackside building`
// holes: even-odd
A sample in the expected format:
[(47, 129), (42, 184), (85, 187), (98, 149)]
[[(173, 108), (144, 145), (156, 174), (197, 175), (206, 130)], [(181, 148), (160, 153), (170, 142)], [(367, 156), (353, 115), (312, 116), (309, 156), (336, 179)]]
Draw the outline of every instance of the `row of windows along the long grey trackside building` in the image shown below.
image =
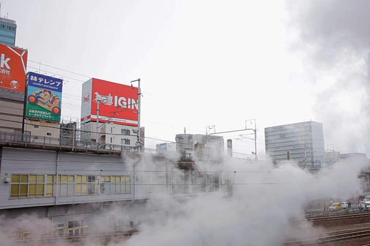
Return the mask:
[[(175, 172), (171, 175), (171, 193), (213, 192), (227, 189), (227, 180), (219, 180), (217, 174), (200, 175)], [(170, 191), (166, 177), (145, 175), (142, 183), (146, 193)], [(55, 175), (55, 174), (12, 174), (10, 198), (35, 198), (55, 196), (83, 196), (104, 194), (130, 194), (132, 180), (129, 175)], [(169, 177), (168, 177), (169, 179)], [(191, 186), (191, 188), (190, 188)]]

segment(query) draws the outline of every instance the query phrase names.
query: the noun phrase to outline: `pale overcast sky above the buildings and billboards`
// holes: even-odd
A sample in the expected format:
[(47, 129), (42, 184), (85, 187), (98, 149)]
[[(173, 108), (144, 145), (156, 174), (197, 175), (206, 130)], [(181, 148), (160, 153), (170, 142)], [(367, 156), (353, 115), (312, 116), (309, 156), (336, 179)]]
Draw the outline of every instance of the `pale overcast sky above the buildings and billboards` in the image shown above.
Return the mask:
[[(370, 2), (1, 3), (2, 16), (16, 20), (16, 46), (29, 51), (28, 71), (41, 61), (126, 85), (140, 77), (147, 137), (238, 130), (255, 118), (264, 159), (265, 127), (312, 119), (324, 124), (325, 146), (370, 153)], [(80, 118), (79, 80), (88, 77), (41, 69), (68, 80), (62, 115)], [(253, 157), (254, 142), (238, 135), (223, 136)]]

